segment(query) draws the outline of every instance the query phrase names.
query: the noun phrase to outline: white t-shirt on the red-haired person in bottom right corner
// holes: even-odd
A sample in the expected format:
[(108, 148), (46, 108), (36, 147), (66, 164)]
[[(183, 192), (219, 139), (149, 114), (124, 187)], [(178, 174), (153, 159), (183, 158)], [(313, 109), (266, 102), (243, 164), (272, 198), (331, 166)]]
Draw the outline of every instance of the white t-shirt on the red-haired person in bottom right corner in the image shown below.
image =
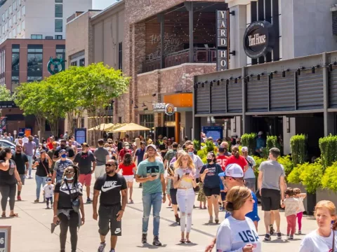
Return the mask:
[[(335, 233), (335, 248), (337, 248), (337, 231)], [(332, 248), (333, 232), (329, 237), (321, 237), (318, 235), (317, 230), (305, 235), (303, 241), (300, 244), (300, 252), (329, 252)]]

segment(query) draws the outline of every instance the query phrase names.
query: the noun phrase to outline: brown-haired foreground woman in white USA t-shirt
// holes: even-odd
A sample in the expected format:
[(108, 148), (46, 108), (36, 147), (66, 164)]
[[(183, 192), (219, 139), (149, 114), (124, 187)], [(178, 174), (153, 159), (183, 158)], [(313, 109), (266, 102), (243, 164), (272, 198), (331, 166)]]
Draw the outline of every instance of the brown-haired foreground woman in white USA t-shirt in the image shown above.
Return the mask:
[(216, 234), (216, 251), (220, 252), (261, 252), (261, 241), (255, 225), (246, 214), (253, 210), (254, 200), (251, 190), (245, 186), (234, 186), (227, 193), (226, 211), (231, 216), (225, 218)]

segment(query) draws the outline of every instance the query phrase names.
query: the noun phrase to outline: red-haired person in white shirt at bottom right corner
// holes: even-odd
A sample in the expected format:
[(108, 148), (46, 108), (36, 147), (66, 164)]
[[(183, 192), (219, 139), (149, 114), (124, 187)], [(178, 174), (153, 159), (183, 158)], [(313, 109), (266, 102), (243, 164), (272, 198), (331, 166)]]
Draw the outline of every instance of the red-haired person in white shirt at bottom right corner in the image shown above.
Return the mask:
[(329, 200), (322, 200), (316, 204), (315, 217), (317, 230), (305, 235), (300, 244), (300, 252), (332, 252), (337, 248), (336, 207)]

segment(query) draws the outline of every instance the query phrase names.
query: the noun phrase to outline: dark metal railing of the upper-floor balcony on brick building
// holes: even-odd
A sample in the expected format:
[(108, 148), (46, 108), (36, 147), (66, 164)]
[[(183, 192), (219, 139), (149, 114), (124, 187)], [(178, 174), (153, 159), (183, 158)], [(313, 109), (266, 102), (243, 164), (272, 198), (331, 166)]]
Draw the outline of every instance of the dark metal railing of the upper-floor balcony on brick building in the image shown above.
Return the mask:
[[(173, 52), (165, 57), (165, 68), (189, 63), (190, 49)], [(194, 48), (194, 63), (216, 63), (216, 48)], [(142, 73), (161, 69), (160, 57), (143, 62)]]

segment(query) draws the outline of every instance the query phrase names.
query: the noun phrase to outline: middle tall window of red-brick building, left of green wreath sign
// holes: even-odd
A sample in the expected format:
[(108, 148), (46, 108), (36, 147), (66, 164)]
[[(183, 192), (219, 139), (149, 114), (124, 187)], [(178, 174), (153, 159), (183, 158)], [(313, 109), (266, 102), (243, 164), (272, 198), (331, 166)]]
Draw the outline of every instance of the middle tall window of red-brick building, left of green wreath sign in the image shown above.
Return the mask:
[[(27, 56), (27, 76), (39, 77), (42, 79), (42, 56), (43, 56), (43, 46), (42, 45), (28, 45), (28, 56)], [(28, 81), (39, 80), (36, 78), (29, 78)]]

